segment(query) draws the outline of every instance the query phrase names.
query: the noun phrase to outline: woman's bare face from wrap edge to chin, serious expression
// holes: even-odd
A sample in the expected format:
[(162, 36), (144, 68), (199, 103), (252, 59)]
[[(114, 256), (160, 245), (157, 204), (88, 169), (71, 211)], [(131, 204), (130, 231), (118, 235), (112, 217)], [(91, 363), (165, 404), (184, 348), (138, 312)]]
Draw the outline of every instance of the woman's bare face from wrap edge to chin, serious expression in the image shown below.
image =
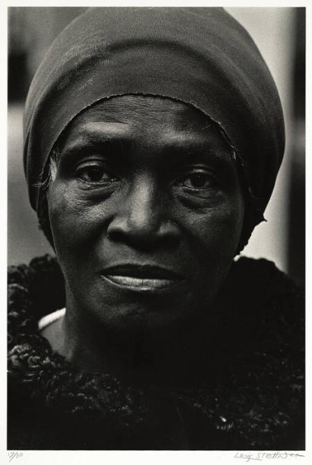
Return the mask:
[(101, 328), (174, 328), (212, 312), (244, 203), (223, 138), (195, 108), (122, 96), (71, 123), (48, 194), (67, 310)]

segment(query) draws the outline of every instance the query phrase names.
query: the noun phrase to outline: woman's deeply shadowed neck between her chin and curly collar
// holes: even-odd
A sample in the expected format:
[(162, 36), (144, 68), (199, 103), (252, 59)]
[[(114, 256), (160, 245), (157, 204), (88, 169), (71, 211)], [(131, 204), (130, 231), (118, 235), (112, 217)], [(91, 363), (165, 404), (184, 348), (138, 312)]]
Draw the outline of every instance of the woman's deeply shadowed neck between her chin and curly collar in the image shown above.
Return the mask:
[[(205, 328), (205, 329), (204, 329)], [(205, 354), (207, 326), (173, 330), (107, 330), (67, 307), (65, 316), (42, 332), (53, 350), (84, 372), (108, 372), (125, 382), (193, 382)], [(208, 356), (209, 359), (211, 357)]]

